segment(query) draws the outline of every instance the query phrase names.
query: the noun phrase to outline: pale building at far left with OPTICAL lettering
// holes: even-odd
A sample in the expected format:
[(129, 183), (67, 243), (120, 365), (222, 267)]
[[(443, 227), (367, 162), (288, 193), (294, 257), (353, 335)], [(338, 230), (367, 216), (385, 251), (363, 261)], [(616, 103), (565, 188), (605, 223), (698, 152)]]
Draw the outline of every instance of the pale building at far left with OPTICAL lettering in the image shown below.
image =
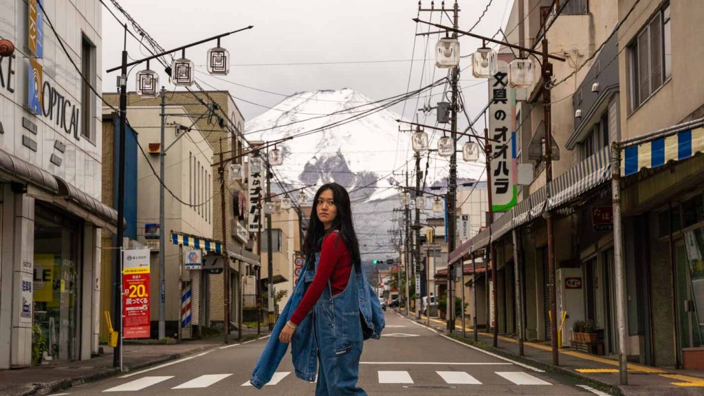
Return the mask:
[(100, 201), (100, 99), (90, 87), (100, 94), (100, 6), (3, 1), (0, 15), (0, 37), (15, 47), (0, 57), (0, 369), (90, 359), (109, 292), (101, 235), (117, 225)]

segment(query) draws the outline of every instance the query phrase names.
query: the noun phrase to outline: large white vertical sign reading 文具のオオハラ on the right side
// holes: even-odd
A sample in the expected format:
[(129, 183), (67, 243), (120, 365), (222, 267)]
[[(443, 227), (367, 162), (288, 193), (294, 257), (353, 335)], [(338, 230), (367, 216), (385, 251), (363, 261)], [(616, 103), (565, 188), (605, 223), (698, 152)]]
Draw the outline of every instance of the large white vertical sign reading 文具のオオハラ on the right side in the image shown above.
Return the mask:
[(508, 87), (508, 64), (498, 61), (498, 71), (489, 80), (489, 137), (491, 142), (491, 199), (494, 211), (508, 211), (516, 204), (515, 106)]

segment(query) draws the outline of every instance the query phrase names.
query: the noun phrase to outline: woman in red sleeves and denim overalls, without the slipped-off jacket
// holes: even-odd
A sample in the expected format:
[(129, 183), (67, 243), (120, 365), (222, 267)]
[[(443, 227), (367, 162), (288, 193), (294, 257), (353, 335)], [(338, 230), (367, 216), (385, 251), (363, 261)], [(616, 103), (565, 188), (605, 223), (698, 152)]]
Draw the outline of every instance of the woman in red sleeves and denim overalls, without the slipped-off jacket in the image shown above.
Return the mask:
[(349, 194), (329, 183), (320, 187), (313, 202), (302, 250), (315, 277), (279, 340), (291, 342), (303, 318), (313, 312), (320, 364), (315, 395), (366, 395), (357, 387), (363, 328), (355, 274), (361, 274), (361, 260)]

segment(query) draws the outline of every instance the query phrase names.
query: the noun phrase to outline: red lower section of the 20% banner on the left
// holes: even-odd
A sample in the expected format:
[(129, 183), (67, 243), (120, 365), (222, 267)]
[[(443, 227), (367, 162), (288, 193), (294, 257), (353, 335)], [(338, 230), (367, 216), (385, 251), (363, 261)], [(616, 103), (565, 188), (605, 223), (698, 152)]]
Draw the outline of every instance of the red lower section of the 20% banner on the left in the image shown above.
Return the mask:
[(149, 338), (149, 273), (122, 275), (123, 338)]

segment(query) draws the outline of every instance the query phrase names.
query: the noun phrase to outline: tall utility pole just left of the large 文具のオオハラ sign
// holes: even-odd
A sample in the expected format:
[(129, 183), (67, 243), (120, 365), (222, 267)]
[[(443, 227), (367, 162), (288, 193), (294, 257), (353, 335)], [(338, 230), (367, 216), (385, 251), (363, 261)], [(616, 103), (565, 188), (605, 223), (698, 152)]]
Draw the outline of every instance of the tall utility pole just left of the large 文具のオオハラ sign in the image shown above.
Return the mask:
[[(455, 29), (458, 28), (459, 25), (459, 8), (457, 4), (457, 0), (455, 0), (455, 5), (453, 6), (453, 11), (454, 11), (454, 16), (453, 16), (453, 27)], [(452, 37), (454, 39), (457, 38), (457, 32), (453, 32)], [(460, 70), (458, 68), (453, 68), (452, 69), (452, 106), (451, 106), (451, 116), (452, 116), (452, 122), (451, 122), (451, 137), (452, 137), (452, 142), (453, 142), (453, 147), (456, 147), (457, 145), (457, 94), (458, 94), (458, 89), (457, 89), (457, 82), (460, 78)], [(453, 149), (452, 156), (450, 157), (450, 180), (449, 180), (449, 187), (448, 187), (448, 252), (453, 252), (455, 250), (455, 232), (456, 232), (456, 225), (455, 225), (455, 208), (456, 205), (456, 195), (457, 195), (457, 150)], [(450, 333), (455, 330), (455, 301), (453, 298), (453, 283), (455, 280), (454, 274), (452, 273), (452, 267), (453, 266), (448, 266), (448, 301), (447, 301), (447, 307), (448, 307), (448, 313), (449, 315), (449, 321), (448, 321), (448, 330)]]

